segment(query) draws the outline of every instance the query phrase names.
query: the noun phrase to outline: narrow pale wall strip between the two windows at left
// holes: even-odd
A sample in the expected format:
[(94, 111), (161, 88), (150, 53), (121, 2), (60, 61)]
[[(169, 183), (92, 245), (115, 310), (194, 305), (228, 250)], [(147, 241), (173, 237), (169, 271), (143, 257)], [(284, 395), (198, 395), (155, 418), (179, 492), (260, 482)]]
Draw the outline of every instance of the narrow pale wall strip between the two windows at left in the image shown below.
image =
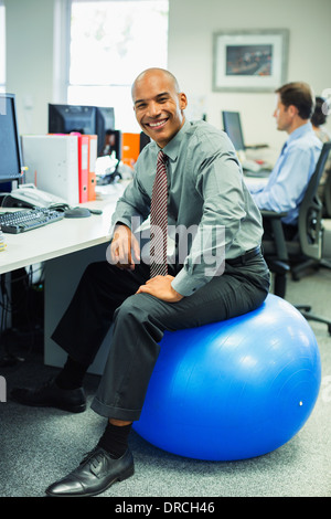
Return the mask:
[(6, 0), (7, 91), (22, 134), (47, 130), (53, 96), (53, 0)]

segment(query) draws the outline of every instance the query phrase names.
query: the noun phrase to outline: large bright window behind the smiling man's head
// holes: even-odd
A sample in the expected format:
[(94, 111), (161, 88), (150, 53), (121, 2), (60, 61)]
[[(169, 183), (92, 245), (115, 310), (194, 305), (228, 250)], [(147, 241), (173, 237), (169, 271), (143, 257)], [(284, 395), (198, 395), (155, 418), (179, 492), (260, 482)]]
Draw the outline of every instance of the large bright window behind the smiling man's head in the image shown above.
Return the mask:
[(116, 128), (140, 131), (131, 83), (167, 68), (168, 0), (72, 0), (67, 103), (114, 106)]

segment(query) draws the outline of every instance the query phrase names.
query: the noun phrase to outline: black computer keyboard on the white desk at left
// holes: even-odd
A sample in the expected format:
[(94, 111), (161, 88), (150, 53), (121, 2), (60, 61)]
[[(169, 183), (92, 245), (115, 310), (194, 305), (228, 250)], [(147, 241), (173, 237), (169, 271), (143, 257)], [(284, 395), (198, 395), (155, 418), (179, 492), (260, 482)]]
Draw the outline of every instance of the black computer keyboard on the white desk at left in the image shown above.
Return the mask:
[(33, 229), (57, 222), (64, 218), (64, 212), (53, 209), (31, 209), (28, 211), (13, 211), (0, 213), (0, 230), (3, 233), (19, 234)]

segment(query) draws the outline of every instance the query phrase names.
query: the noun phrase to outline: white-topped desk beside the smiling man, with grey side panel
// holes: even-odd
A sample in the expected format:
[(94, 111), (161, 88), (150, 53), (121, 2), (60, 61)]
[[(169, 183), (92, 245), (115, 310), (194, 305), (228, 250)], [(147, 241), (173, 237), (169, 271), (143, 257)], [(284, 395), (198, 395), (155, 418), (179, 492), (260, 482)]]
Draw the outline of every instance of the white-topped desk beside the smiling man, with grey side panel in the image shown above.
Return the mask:
[[(83, 219), (63, 219), (22, 234), (4, 234), (6, 251), (0, 253), (0, 274), (45, 262), (44, 362), (62, 367), (66, 353), (51, 335), (67, 307), (81, 276), (93, 261), (105, 260), (109, 244), (111, 214), (124, 186), (114, 187), (100, 201), (82, 206), (102, 209), (103, 214)], [(109, 331), (111, 333), (111, 330)], [(109, 338), (102, 346), (89, 372), (100, 374)]]

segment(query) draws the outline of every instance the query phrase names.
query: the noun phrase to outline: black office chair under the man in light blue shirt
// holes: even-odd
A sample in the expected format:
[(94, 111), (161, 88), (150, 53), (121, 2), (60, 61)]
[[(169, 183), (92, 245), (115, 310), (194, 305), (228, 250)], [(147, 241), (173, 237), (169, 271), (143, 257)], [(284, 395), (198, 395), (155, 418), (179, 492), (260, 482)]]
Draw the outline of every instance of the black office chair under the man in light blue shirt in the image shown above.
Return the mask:
[[(286, 295), (287, 273), (291, 273), (293, 279), (299, 279), (299, 274), (308, 267), (320, 266), (331, 268), (331, 263), (322, 260), (322, 212), (323, 206), (318, 198), (318, 186), (331, 150), (331, 142), (323, 145), (316, 170), (308, 183), (305, 197), (299, 209), (298, 233), (291, 241), (286, 241), (281, 218), (287, 213), (261, 211), (264, 221), (268, 221), (273, 237), (263, 241), (265, 260), (274, 274), (274, 293), (282, 298)], [(331, 321), (310, 314), (307, 305), (297, 306), (306, 319), (324, 322), (331, 333)]]

